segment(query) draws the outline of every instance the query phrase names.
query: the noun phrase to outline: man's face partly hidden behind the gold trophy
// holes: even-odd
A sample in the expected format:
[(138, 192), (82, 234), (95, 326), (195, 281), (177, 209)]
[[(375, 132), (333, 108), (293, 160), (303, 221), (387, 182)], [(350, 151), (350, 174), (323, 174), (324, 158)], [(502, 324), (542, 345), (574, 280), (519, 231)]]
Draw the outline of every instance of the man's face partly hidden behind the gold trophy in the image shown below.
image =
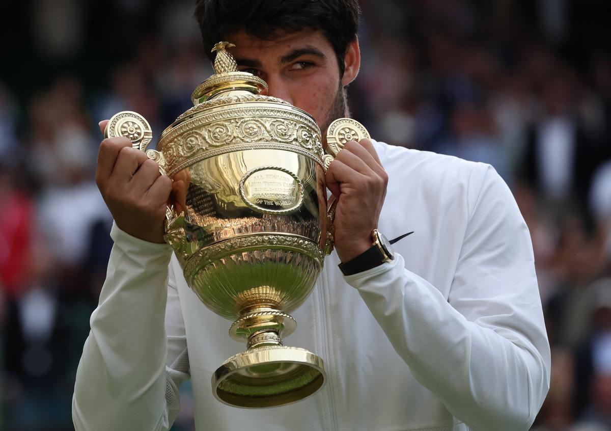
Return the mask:
[(238, 68), (259, 76), (268, 95), (308, 112), (324, 133), (329, 123), (346, 115), (345, 92), (331, 43), (313, 30), (253, 39), (239, 32), (227, 39)]

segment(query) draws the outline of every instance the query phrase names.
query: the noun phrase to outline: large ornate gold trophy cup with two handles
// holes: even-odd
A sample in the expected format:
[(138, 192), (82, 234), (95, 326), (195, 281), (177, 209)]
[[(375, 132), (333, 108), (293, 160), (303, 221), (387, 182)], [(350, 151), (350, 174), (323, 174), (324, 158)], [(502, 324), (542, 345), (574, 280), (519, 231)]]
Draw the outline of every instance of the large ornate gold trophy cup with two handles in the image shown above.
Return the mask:
[[(233, 320), (229, 335), (246, 341), (212, 376), (214, 396), (237, 407), (296, 402), (323, 386), (323, 360), (285, 346), (296, 322), (289, 312), (310, 295), (333, 245), (320, 129), (307, 112), (261, 95), (267, 84), (239, 72), (220, 42), (215, 74), (147, 150), (152, 131), (136, 112), (115, 114), (106, 136), (126, 136), (173, 181), (165, 240), (189, 287), (215, 313)], [(335, 120), (327, 149), (368, 138), (351, 119)]]

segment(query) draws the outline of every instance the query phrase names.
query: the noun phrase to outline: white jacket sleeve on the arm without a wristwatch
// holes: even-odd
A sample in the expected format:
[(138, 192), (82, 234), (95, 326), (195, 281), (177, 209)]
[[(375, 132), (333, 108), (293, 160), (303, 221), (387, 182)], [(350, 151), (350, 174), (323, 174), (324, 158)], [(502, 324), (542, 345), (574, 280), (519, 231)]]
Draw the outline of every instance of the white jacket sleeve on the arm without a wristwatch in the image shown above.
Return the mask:
[(178, 386), (189, 378), (171, 249), (116, 225), (111, 237), (106, 281), (76, 372), (75, 429), (167, 430), (180, 408)]

